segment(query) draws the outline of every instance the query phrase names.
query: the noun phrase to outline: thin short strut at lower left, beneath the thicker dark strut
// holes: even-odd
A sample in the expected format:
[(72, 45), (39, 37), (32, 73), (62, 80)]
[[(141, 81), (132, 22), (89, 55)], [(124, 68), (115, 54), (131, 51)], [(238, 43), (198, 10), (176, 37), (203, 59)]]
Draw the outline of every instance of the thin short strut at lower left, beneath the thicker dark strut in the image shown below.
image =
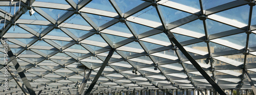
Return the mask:
[(8, 66), (5, 66), (4, 68), (8, 69), (8, 72), (11, 74), (12, 78), (15, 80), (15, 82), (17, 83), (19, 88), (22, 89), (24, 94), (26, 94), (26, 95), (29, 94), (29, 92), (26, 90), (26, 88), (24, 88), (24, 86), (22, 86), (22, 83), (18, 80), (18, 78), (16, 76), (14, 76), (14, 73), (12, 72), (12, 70)]

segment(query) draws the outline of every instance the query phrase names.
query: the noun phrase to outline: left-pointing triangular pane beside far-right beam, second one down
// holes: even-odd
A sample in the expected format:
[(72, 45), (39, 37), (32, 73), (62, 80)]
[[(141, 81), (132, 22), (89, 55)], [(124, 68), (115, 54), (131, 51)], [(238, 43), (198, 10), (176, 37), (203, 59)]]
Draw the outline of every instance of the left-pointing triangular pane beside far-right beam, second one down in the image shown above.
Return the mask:
[(247, 34), (241, 33), (241, 34), (237, 34), (237, 35), (223, 37), (223, 38), (220, 38), (220, 39), (228, 41), (228, 42), (231, 42), (233, 44), (240, 45), (240, 46), (245, 46), (245, 44), (246, 44), (246, 36), (247, 36)]

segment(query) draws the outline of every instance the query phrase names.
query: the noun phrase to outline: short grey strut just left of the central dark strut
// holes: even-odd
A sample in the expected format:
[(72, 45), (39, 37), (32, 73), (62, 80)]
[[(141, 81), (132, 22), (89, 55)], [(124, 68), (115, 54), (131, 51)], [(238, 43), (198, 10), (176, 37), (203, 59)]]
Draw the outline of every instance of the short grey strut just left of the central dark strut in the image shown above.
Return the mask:
[[(86, 83), (87, 83), (87, 81), (88, 81), (88, 79), (89, 79), (91, 73), (92, 73), (92, 70), (90, 69), (90, 70), (89, 70), (89, 73), (88, 73), (87, 76), (86, 76), (86, 70), (84, 70), (84, 77), (83, 77), (81, 86), (78, 88), (77, 95), (82, 94), (82, 91), (83, 91), (84, 87), (86, 86)], [(85, 76), (86, 76), (86, 77), (85, 77)]]

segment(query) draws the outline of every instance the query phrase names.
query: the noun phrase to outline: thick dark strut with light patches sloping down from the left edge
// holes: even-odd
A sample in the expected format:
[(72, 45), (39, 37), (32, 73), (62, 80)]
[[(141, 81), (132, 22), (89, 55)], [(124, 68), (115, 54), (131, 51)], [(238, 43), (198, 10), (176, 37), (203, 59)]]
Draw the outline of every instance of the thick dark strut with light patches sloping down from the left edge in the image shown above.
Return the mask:
[(13, 55), (13, 53), (12, 53), (12, 51), (11, 51), (11, 48), (9, 47), (8, 44), (7, 44), (7, 46), (4, 46), (4, 45), (6, 45), (6, 44), (4, 44), (5, 41), (4, 41), (3, 39), (1, 39), (1, 43), (2, 43), (3, 47), (7, 47), (7, 51), (8, 51), (7, 54), (8, 54), (8, 56), (10, 57), (10, 59), (12, 60), (12, 64), (13, 64), (13, 66), (15, 67), (15, 69), (17, 70), (18, 75), (19, 75), (20, 78), (22, 79), (22, 81), (23, 81), (24, 85), (26, 86), (28, 92), (29, 92), (30, 94), (32, 94), (32, 95), (35, 95), (35, 91), (33, 90), (32, 86), (30, 85), (30, 83), (29, 83), (29, 81), (28, 81), (26, 75), (25, 75), (24, 72), (23, 72), (23, 69), (19, 66), (16, 57)]

